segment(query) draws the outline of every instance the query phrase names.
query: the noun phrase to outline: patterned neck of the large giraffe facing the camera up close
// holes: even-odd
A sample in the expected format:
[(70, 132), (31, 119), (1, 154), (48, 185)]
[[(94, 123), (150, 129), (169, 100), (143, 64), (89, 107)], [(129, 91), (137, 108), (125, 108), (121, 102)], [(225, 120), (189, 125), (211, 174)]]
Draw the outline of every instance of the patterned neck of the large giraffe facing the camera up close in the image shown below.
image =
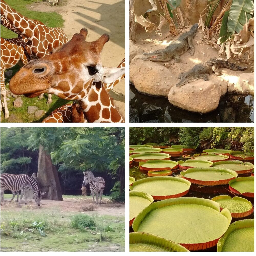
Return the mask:
[(92, 82), (87, 97), (78, 102), (89, 123), (123, 123), (101, 82)]

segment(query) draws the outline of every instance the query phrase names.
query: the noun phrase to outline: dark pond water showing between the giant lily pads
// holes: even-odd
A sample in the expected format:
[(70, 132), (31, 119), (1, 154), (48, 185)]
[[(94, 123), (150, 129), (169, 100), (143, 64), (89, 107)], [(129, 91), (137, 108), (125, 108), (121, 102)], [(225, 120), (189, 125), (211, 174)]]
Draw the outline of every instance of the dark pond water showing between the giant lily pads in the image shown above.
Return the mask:
[[(171, 158), (171, 160), (173, 160), (173, 161), (179, 161), (179, 160), (185, 161), (186, 159), (190, 159), (190, 158), (182, 158), (182, 156)], [(252, 163), (254, 164), (254, 161)], [(180, 172), (182, 172), (182, 171), (184, 171), (184, 170), (182, 170), (182, 169), (173, 170), (172, 176), (180, 177)], [(138, 169), (138, 163), (135, 163), (135, 162), (133, 162), (133, 164), (130, 165), (130, 176), (134, 177), (135, 180), (148, 177), (147, 174), (143, 174), (140, 172), (140, 170)], [(250, 173), (238, 175), (238, 177), (241, 177), (241, 176), (251, 176), (251, 175), (250, 175)], [(191, 184), (189, 192), (187, 195), (185, 195), (185, 197), (199, 197), (199, 198), (212, 199), (213, 197), (218, 196), (218, 195), (229, 195), (231, 197), (240, 196), (240, 197), (243, 197), (243, 198), (246, 198), (247, 200), (249, 200), (254, 207), (254, 198), (244, 197), (242, 195), (236, 195), (236, 194), (232, 193), (231, 191), (229, 191), (228, 185), (206, 187), (206, 186), (199, 186), (199, 185)], [(234, 221), (237, 221), (237, 220), (253, 219), (253, 218), (254, 218), (254, 212), (251, 215), (246, 216), (244, 218), (232, 218), (231, 223), (233, 223)], [(132, 227), (130, 227), (130, 232), (133, 232)], [(217, 246), (208, 248), (206, 250), (200, 250), (200, 251), (217, 251)]]

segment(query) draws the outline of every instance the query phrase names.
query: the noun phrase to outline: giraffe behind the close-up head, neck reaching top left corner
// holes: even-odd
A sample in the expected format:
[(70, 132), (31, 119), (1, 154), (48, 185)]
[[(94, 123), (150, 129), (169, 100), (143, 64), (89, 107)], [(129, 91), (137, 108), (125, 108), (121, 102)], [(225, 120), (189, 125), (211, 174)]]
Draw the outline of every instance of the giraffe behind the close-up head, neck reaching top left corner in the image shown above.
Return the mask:
[[(1, 23), (26, 42), (25, 51), (31, 58), (42, 58), (65, 44), (68, 37), (61, 28), (50, 28), (38, 20), (28, 19), (1, 1)], [(39, 95), (39, 99), (43, 94)], [(48, 95), (47, 104), (52, 102)]]

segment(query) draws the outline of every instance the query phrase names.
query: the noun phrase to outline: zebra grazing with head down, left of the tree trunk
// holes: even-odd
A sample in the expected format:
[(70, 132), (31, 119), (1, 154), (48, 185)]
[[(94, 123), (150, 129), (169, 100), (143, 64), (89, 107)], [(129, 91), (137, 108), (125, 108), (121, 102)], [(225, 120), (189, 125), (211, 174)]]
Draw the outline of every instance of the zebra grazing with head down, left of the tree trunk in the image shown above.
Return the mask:
[[(0, 180), (1, 180), (1, 205), (4, 205), (4, 191), (6, 189), (9, 189), (11, 191), (21, 190), (19, 204), (24, 195), (24, 192), (26, 190), (32, 190), (35, 195), (35, 198), (34, 198), (35, 202), (38, 206), (40, 206), (40, 201), (42, 196), (41, 196), (38, 183), (34, 178), (31, 178), (26, 174), (3, 173), (0, 175)], [(25, 204), (27, 204), (26, 196), (25, 196)]]

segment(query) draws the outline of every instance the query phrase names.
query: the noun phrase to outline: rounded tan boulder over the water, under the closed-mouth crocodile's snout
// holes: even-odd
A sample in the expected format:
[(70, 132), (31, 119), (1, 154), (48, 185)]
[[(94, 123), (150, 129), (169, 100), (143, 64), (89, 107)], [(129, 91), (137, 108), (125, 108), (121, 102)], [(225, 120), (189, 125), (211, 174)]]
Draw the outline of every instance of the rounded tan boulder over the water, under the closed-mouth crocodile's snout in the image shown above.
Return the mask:
[(219, 85), (202, 79), (181, 87), (174, 86), (168, 94), (168, 100), (174, 106), (197, 113), (215, 110), (219, 105), (220, 97)]

